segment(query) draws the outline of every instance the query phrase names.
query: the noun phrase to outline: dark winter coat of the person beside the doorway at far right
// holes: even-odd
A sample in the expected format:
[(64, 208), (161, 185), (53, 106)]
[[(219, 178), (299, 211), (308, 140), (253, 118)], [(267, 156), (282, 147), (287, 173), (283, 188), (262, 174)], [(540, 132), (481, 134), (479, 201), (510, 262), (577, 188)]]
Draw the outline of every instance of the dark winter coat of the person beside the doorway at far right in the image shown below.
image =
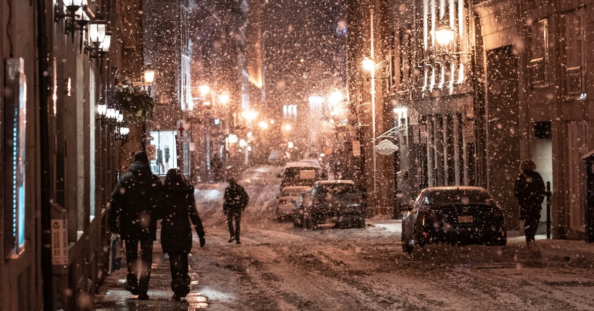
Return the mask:
[(545, 198), (545, 182), (538, 172), (526, 170), (518, 175), (514, 187), (516, 200), (520, 204), (520, 219), (538, 218)]

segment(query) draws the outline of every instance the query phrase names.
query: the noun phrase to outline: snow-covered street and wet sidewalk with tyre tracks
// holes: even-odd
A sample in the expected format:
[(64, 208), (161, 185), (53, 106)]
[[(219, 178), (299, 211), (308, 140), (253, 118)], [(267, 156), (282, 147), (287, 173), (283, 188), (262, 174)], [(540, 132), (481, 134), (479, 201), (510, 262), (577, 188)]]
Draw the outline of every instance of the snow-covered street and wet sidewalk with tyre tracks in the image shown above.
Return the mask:
[[(122, 290), (122, 270), (101, 288), (97, 309), (594, 310), (594, 271), (583, 258), (594, 254), (592, 245), (549, 240), (526, 248), (522, 237), (510, 234), (504, 247), (431, 245), (410, 257), (400, 246), (399, 220), (314, 231), (277, 222), (278, 170), (250, 169), (240, 181), (251, 197), (241, 245), (227, 243), (226, 185), (197, 186), (207, 245), (200, 249), (195, 237), (187, 302), (169, 300), (169, 264), (156, 243), (151, 300), (134, 300)], [(585, 253), (550, 255), (564, 242)]]

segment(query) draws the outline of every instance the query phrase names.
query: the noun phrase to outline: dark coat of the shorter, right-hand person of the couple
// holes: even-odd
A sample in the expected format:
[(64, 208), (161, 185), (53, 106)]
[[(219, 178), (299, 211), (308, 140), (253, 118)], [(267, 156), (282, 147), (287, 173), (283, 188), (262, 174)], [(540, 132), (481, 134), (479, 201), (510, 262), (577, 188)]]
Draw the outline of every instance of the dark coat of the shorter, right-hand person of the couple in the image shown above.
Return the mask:
[(188, 185), (164, 186), (161, 210), (161, 246), (165, 253), (189, 253), (192, 250), (192, 228), (204, 236), (202, 220), (196, 210), (194, 187)]

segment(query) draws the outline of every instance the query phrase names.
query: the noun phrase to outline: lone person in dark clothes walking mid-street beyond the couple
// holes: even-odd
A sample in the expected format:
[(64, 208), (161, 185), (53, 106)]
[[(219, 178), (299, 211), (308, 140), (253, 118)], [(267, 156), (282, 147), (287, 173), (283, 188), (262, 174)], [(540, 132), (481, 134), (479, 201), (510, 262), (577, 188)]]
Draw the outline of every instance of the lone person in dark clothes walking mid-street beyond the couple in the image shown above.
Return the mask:
[[(229, 225), (229, 243), (235, 240), (239, 242), (239, 227), (241, 226), (241, 212), (245, 210), (248, 205), (249, 196), (245, 192), (244, 187), (237, 184), (233, 177), (228, 178), (229, 187), (225, 189), (225, 202), (223, 203), (223, 213), (227, 216), (227, 223)], [(233, 230), (233, 219), (235, 219), (235, 230)]]

